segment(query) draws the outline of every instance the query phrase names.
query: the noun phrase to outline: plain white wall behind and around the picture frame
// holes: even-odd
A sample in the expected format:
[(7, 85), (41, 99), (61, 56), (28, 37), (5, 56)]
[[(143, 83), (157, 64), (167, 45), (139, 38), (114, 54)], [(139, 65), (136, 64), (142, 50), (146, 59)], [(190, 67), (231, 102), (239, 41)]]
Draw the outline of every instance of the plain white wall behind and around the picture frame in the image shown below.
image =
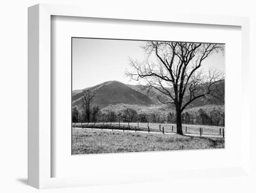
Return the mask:
[[(74, 4), (97, 7), (121, 7), (133, 12), (171, 12), (182, 9), (189, 13), (238, 15), (250, 17), (251, 123), (255, 117), (256, 5), (254, 0), (5, 0), (0, 4), (0, 192), (37, 192), (27, 183), (27, 7), (37, 3)], [(236, 56), (234, 56), (236, 57)], [(234, 93), (235, 96), (235, 93)], [(238, 102), (239, 104), (239, 102)], [(238, 105), (236, 104), (236, 105)], [(253, 136), (256, 132), (251, 133)], [(251, 138), (252, 139), (252, 138)], [(255, 147), (256, 142), (251, 140)], [(255, 150), (255, 148), (254, 148)], [(252, 152), (253, 153), (253, 152)], [(255, 152), (254, 164), (256, 163)], [(255, 171), (255, 166), (251, 164)], [(256, 174), (256, 173), (254, 173)], [(44, 190), (45, 192), (254, 192), (252, 181), (232, 178), (228, 184), (213, 178), (183, 184), (154, 183), (118, 186), (82, 187)]]

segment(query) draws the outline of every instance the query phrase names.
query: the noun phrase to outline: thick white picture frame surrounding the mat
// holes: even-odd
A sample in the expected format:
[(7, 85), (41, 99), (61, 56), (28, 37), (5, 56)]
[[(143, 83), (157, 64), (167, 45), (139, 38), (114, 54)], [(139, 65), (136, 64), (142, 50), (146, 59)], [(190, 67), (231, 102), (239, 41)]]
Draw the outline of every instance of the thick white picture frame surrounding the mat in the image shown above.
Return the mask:
[[(28, 185), (36, 188), (77, 187), (102, 184), (138, 183), (175, 179), (188, 176), (191, 171), (155, 170), (149, 173), (129, 173), (122, 176), (102, 174), (82, 177), (51, 177), (51, 16), (72, 16), (105, 19), (130, 19), (155, 22), (178, 22), (203, 25), (239, 26), (242, 31), (242, 104), (241, 161), (237, 167), (205, 168), (193, 171), (196, 177), (249, 176), (249, 18), (236, 16), (191, 15), (173, 13), (129, 13), (124, 10), (102, 9), (95, 12), (90, 7), (38, 4), (28, 8)], [(241, 127), (241, 126), (240, 126)], [(152, 174), (152, 175), (149, 175)], [(150, 177), (149, 177), (150, 176)]]

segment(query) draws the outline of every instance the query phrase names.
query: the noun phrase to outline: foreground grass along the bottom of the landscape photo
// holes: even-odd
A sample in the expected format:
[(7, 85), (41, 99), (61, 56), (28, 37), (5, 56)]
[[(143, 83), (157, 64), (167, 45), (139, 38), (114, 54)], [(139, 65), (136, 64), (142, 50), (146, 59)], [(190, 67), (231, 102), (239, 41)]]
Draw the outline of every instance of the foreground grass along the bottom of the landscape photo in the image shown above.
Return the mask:
[(72, 154), (224, 148), (224, 138), (131, 133), (74, 128)]

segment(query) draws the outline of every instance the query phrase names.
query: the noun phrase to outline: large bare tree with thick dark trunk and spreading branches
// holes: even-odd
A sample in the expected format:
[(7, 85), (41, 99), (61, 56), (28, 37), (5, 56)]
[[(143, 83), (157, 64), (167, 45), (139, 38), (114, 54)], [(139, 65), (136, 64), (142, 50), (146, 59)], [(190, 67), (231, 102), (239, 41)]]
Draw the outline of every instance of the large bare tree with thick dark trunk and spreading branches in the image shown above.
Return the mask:
[(182, 111), (200, 97), (219, 97), (219, 84), (224, 81), (223, 73), (216, 69), (205, 73), (203, 61), (211, 54), (222, 51), (221, 44), (157, 42), (148, 41), (141, 48), (145, 51), (144, 61), (129, 58), (131, 71), (126, 75), (133, 80), (143, 81), (149, 91), (156, 89), (168, 96), (163, 104), (172, 104), (176, 109), (177, 134), (182, 133)]

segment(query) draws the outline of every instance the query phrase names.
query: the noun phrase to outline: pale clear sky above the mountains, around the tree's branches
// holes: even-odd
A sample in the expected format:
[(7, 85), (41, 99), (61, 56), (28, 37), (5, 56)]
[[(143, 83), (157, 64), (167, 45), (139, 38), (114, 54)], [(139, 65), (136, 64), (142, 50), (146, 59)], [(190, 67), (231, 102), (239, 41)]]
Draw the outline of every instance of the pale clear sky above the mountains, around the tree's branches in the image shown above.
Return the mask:
[[(72, 39), (72, 89), (84, 89), (110, 80), (137, 84), (124, 76), (128, 57), (143, 60), (140, 45), (144, 41), (113, 39)], [(224, 56), (215, 53), (206, 58), (203, 69), (215, 67), (224, 71)]]

